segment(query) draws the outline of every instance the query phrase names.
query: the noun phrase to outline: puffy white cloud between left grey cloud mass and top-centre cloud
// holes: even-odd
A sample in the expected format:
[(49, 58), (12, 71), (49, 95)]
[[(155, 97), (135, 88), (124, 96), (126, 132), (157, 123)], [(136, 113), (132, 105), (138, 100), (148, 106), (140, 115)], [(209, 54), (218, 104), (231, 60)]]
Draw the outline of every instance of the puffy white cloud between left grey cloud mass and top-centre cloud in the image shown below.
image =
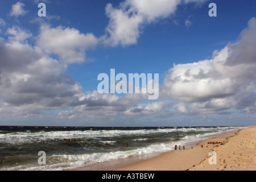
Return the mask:
[(98, 39), (91, 33), (82, 34), (75, 28), (56, 27), (46, 24), (40, 27), (37, 45), (46, 53), (55, 53), (65, 64), (82, 63), (85, 51), (94, 48)]

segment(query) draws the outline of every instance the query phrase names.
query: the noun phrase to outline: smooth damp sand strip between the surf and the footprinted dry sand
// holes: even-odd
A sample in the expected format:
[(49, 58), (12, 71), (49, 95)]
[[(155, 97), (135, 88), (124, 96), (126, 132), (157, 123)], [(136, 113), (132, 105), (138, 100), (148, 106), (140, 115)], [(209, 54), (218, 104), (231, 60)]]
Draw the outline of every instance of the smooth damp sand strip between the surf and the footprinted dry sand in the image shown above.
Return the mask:
[[(250, 129), (256, 127), (249, 127)], [(246, 130), (242, 129), (242, 130)], [(203, 139), (197, 143), (190, 143), (185, 150), (172, 150), (168, 152), (159, 152), (134, 156), (125, 159), (115, 159), (109, 162), (96, 163), (90, 166), (79, 168), (64, 169), (64, 171), (185, 171), (200, 164), (207, 158), (209, 152), (218, 144), (208, 144), (210, 141), (225, 143), (229, 137), (233, 137), (240, 130), (226, 131), (217, 135), (212, 135), (210, 139)], [(203, 144), (203, 148), (201, 145)], [(193, 146), (193, 148), (191, 148)], [(175, 164), (175, 165), (174, 165)], [(214, 165), (215, 166), (215, 165)]]

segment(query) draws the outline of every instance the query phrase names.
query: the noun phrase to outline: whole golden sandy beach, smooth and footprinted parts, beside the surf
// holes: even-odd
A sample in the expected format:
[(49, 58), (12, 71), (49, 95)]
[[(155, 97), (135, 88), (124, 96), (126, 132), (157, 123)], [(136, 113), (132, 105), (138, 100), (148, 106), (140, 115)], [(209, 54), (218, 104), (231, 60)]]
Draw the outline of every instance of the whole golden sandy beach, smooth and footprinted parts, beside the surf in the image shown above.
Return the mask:
[[(117, 168), (118, 171), (247, 171), (256, 169), (256, 127), (211, 138), (187, 150), (166, 152), (156, 158)], [(210, 142), (224, 142), (209, 144)], [(201, 147), (203, 145), (203, 148)], [(181, 148), (182, 149), (182, 148)], [(215, 156), (213, 151), (216, 152)], [(216, 157), (216, 161), (214, 161)], [(210, 162), (209, 162), (210, 160)], [(214, 164), (216, 162), (216, 164)], [(211, 164), (210, 164), (211, 163)]]

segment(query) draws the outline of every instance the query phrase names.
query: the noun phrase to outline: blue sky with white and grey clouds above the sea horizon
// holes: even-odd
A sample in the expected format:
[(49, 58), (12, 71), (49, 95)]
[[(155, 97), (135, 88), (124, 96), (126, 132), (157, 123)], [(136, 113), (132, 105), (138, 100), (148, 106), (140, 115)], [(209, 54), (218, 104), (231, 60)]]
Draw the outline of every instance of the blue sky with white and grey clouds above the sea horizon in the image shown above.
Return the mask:
[[(0, 1), (0, 125), (253, 126), (255, 7), (255, 0)], [(159, 88), (158, 98), (99, 93), (98, 75), (110, 79), (110, 69), (159, 74), (146, 83)], [(129, 80), (122, 81), (115, 84)]]

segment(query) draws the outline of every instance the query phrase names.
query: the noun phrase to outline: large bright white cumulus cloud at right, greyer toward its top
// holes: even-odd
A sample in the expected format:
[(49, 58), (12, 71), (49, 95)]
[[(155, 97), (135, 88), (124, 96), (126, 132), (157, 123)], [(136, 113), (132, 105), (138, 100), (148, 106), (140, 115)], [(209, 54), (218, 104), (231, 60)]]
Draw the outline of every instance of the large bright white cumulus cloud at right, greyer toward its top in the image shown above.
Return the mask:
[(230, 107), (253, 111), (255, 32), (256, 18), (251, 18), (237, 43), (214, 51), (212, 59), (174, 65), (164, 78), (164, 95), (181, 101), (174, 106), (180, 113), (214, 113)]

